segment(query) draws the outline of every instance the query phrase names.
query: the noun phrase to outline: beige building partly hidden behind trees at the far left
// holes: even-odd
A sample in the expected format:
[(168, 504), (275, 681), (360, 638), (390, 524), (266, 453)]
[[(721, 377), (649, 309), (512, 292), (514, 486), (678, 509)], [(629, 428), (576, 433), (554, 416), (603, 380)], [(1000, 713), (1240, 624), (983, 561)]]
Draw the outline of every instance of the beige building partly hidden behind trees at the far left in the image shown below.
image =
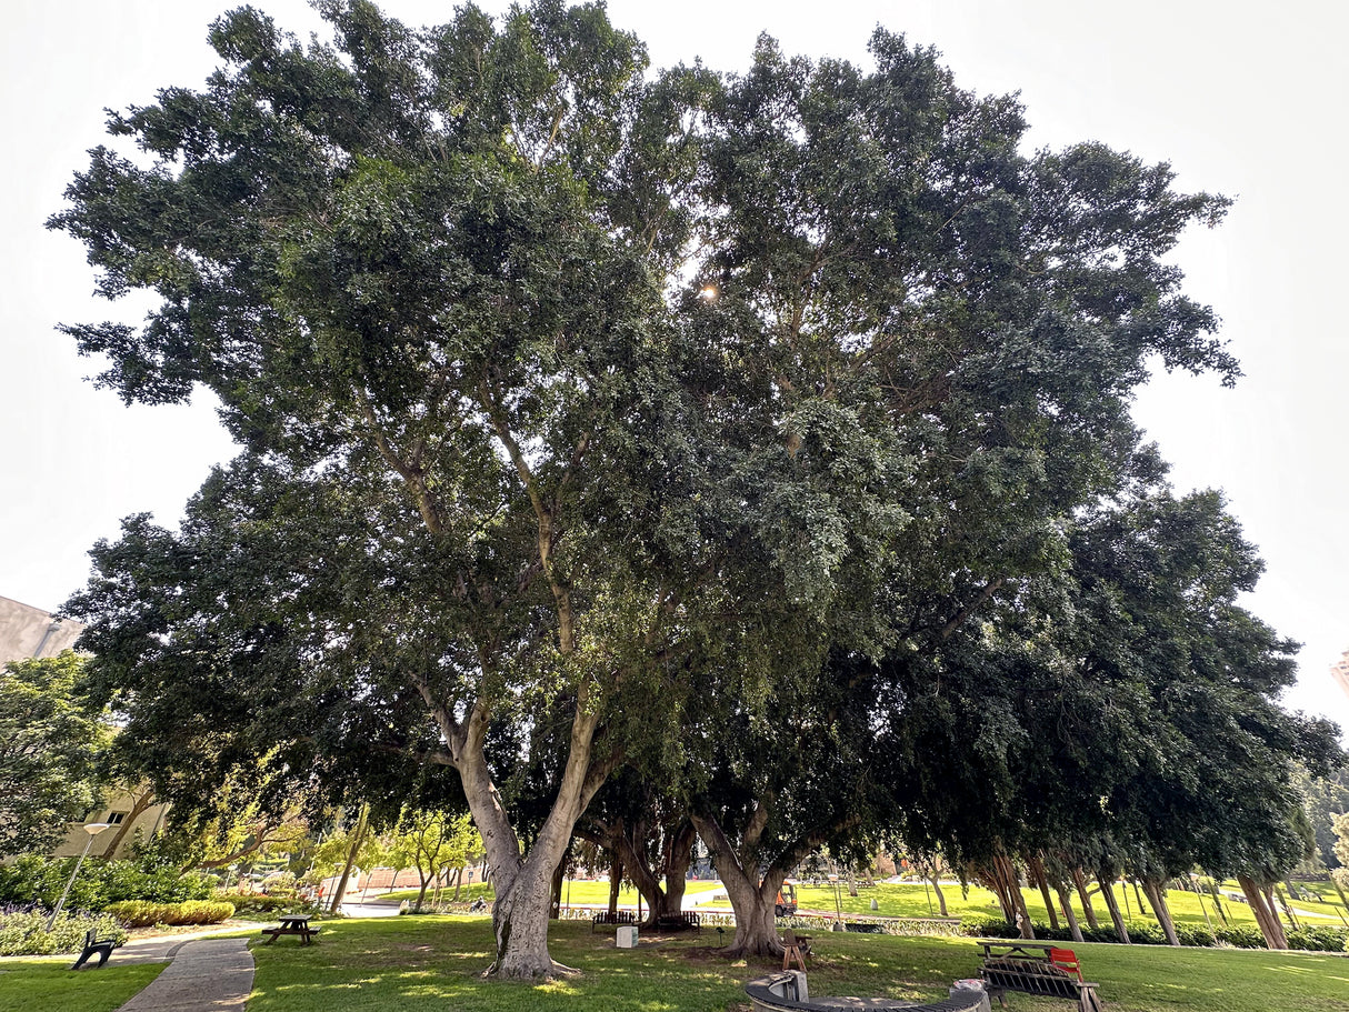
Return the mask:
[[(82, 622), (54, 618), (42, 609), (0, 598), (0, 665), (30, 657), (55, 657), (73, 648), (82, 631)], [(65, 842), (57, 847), (57, 857), (82, 853), (89, 842), (84, 826), (94, 822), (107, 823), (109, 828), (94, 837), (89, 853), (120, 857), (136, 841), (154, 837), (163, 827), (167, 810), (167, 806), (154, 803), (148, 789), (111, 788), (98, 808), (88, 812), (82, 822), (70, 823)]]

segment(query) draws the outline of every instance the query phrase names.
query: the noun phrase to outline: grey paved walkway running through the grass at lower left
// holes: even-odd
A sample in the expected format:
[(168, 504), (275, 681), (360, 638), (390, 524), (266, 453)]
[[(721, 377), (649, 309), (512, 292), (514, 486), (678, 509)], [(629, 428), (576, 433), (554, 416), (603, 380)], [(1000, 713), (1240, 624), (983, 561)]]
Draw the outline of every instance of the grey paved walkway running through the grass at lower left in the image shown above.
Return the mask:
[[(147, 939), (167, 943), (171, 939)], [(125, 953), (132, 946), (119, 950)], [(127, 953), (134, 959), (150, 962), (151, 946), (136, 946)], [(247, 938), (198, 938), (177, 943), (166, 951), (173, 962), (148, 988), (117, 1012), (243, 1012), (252, 993), (252, 953)], [(113, 957), (116, 959), (116, 955)], [(165, 958), (159, 955), (158, 958)]]

